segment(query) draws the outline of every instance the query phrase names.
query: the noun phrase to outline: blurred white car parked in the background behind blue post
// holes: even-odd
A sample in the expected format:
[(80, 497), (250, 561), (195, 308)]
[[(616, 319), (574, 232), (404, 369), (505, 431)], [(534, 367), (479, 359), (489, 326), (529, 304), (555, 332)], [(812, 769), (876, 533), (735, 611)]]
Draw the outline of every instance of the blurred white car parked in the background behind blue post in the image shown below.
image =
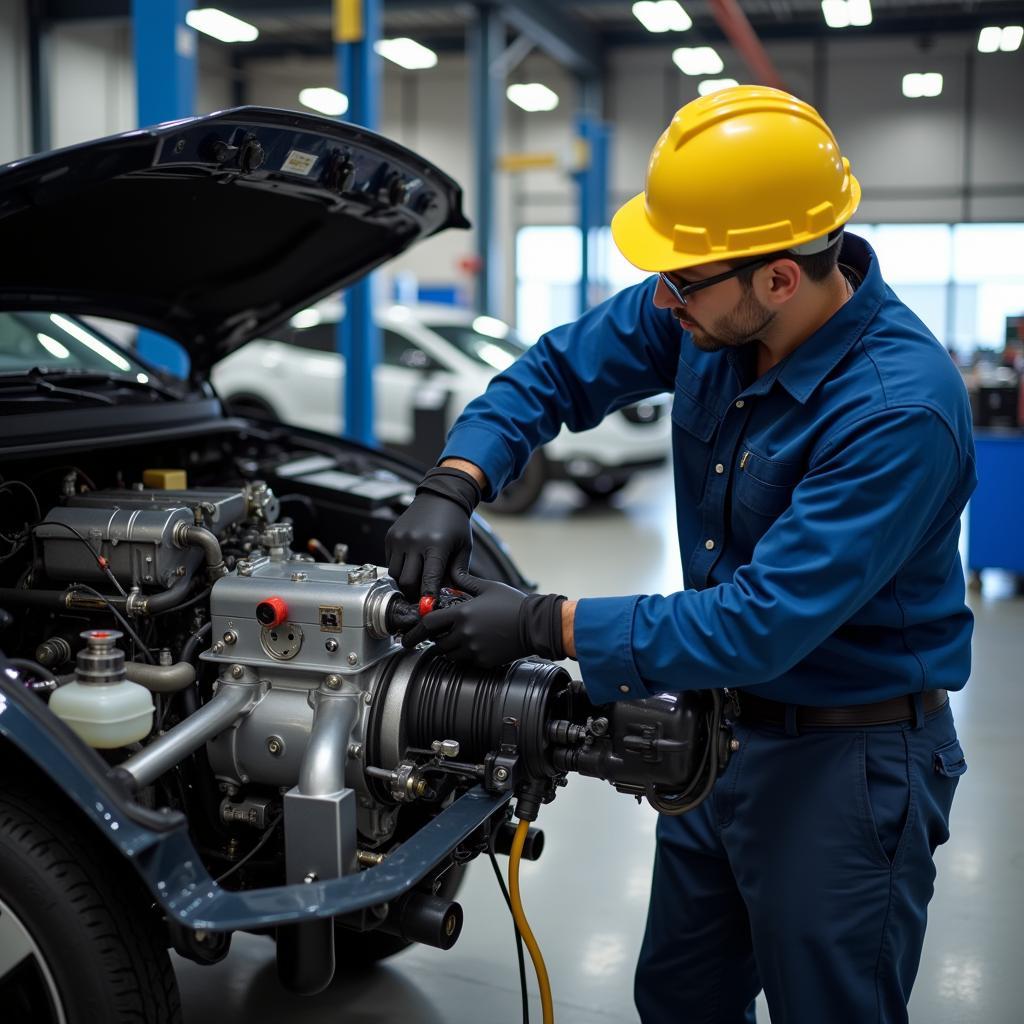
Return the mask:
[[(258, 338), (222, 359), (212, 380), (227, 410), (340, 434), (344, 359), (335, 347), (341, 303), (296, 313), (275, 339)], [(466, 404), (529, 346), (505, 323), (444, 305), (379, 310), (381, 357), (374, 376), (377, 441), (430, 465)], [(561, 433), (506, 489), (501, 511), (521, 512), (549, 479), (567, 479), (593, 499), (620, 490), (638, 470), (669, 456), (669, 396), (612, 413), (591, 430)]]

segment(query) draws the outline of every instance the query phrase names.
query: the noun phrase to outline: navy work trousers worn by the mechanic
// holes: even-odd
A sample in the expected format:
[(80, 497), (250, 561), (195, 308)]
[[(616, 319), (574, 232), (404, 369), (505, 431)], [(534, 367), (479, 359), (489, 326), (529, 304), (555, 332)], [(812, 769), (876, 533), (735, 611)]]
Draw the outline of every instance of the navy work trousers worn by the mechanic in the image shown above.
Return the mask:
[(643, 1024), (899, 1024), (933, 854), (966, 768), (949, 706), (856, 729), (734, 727), (712, 796), (662, 815), (636, 974)]

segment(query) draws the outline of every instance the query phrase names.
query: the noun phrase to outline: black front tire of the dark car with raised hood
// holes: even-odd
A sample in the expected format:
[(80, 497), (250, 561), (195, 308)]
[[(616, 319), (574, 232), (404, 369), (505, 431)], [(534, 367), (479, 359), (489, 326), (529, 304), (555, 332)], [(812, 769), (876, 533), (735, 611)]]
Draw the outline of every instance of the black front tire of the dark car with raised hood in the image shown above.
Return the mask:
[(0, 795), (4, 1024), (50, 1024), (53, 1001), (68, 1024), (180, 1024), (151, 902), (131, 867), (77, 820), (35, 796)]

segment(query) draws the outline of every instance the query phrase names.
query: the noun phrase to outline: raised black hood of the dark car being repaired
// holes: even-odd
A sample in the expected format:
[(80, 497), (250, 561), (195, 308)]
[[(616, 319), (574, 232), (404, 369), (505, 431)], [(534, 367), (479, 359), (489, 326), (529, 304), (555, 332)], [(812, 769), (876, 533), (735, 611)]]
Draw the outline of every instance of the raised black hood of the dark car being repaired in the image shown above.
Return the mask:
[(459, 186), (410, 150), (242, 106), (0, 167), (0, 309), (148, 327), (205, 376), (417, 240), (468, 226)]

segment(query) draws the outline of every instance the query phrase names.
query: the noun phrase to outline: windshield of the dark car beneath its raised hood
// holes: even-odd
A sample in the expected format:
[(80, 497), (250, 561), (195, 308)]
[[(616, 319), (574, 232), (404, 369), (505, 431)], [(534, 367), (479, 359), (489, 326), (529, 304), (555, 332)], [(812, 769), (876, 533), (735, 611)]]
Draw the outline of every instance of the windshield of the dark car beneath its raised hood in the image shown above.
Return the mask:
[(61, 313), (0, 312), (0, 374), (36, 368), (148, 380), (145, 367), (81, 321)]

